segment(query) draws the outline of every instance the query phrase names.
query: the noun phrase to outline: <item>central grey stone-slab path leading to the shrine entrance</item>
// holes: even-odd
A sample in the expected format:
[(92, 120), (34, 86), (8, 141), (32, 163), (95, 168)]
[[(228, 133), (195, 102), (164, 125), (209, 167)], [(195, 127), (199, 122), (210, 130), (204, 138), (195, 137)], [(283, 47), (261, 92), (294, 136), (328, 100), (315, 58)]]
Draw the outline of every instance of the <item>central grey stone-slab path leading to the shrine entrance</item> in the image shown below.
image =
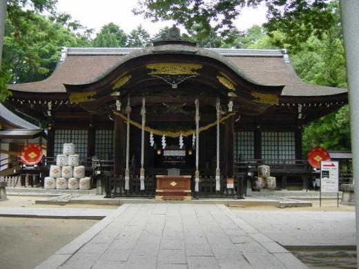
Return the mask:
[(128, 204), (40, 268), (306, 268), (222, 205)]

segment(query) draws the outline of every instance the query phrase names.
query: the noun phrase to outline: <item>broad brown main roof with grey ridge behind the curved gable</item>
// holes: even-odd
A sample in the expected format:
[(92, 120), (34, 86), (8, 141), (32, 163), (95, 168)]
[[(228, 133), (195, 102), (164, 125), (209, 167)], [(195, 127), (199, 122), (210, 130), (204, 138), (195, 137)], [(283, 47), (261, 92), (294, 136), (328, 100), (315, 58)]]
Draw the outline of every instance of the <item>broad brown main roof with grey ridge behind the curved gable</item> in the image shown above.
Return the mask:
[[(188, 53), (188, 48), (173, 45), (166, 53)], [(53, 74), (43, 81), (13, 84), (8, 88), (21, 92), (66, 92), (64, 84), (91, 83), (112, 70), (126, 59), (144, 54), (160, 53), (151, 48), (64, 48)], [(345, 94), (347, 89), (314, 86), (300, 80), (287, 54), (283, 50), (203, 49), (192, 47), (191, 53), (215, 58), (229, 66), (248, 81), (263, 86), (284, 86), (283, 97), (320, 97)]]

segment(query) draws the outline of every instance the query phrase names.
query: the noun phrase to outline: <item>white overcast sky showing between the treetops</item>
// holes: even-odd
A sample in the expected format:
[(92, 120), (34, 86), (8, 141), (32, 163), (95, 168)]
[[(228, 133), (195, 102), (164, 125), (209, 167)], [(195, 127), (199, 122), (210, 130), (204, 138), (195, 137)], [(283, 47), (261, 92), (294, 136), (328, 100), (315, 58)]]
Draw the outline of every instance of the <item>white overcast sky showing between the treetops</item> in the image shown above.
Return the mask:
[[(141, 23), (151, 35), (156, 34), (164, 26), (172, 26), (173, 21), (151, 23), (151, 21), (145, 21), (141, 16), (135, 16), (131, 10), (135, 8), (136, 3), (136, 0), (58, 0), (57, 10), (69, 13), (72, 19), (79, 21), (87, 28), (94, 28), (95, 32), (110, 22), (120, 26), (126, 33)], [(235, 26), (240, 30), (245, 30), (254, 24), (260, 25), (265, 21), (264, 8), (256, 10), (246, 8), (240, 19), (235, 21)]]

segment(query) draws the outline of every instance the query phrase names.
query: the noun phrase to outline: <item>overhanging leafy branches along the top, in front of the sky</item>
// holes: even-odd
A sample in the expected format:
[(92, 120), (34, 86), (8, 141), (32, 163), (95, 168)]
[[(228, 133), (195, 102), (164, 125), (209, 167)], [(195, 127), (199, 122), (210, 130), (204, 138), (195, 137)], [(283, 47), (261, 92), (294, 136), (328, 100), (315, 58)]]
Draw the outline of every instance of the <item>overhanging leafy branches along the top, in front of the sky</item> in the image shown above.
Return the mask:
[(283, 47), (286, 43), (290, 50), (300, 48), (311, 35), (321, 38), (333, 22), (326, 0), (139, 0), (133, 12), (153, 21), (172, 19), (188, 31), (201, 26), (202, 34), (207, 36), (213, 29), (225, 39), (231, 39), (233, 21), (240, 16), (242, 8), (258, 7), (261, 3), (265, 3), (268, 10), (269, 22), (265, 27), (269, 36), (278, 29), (285, 33), (284, 39), (276, 39), (275, 46)]

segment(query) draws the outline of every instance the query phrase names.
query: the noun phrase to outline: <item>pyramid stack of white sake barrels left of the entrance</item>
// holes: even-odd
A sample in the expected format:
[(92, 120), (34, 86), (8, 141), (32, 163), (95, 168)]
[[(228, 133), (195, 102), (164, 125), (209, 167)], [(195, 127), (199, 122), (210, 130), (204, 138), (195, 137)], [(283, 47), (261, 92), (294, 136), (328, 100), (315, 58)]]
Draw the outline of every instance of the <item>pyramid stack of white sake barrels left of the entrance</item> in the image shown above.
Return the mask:
[(85, 166), (79, 166), (79, 155), (75, 155), (75, 145), (64, 143), (63, 153), (57, 155), (56, 166), (50, 166), (50, 177), (45, 178), (44, 188), (90, 189), (90, 178), (85, 177)]

